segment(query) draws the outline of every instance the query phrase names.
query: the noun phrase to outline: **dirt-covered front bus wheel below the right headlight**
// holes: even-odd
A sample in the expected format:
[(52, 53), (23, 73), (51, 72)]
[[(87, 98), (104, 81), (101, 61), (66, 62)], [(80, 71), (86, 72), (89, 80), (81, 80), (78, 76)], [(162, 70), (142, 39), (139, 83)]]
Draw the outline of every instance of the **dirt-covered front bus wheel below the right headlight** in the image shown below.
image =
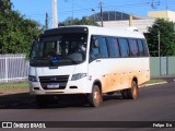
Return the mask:
[(92, 93), (88, 95), (88, 100), (92, 107), (98, 107), (101, 105), (103, 96), (98, 85), (93, 86)]

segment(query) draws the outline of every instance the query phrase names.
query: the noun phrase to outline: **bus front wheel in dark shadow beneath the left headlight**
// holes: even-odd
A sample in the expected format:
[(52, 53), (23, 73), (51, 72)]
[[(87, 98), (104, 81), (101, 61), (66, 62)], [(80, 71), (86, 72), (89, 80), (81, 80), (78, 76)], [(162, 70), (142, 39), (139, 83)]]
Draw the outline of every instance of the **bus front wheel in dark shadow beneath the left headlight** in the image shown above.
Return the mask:
[(36, 103), (39, 108), (47, 108), (48, 107), (48, 100), (45, 96), (36, 96)]

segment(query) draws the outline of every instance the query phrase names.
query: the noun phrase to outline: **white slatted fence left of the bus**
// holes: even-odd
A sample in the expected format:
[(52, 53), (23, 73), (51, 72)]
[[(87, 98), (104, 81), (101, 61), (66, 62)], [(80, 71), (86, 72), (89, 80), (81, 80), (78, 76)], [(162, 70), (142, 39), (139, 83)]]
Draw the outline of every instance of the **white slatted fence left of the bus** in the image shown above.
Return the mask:
[(25, 81), (27, 74), (25, 55), (0, 55), (0, 83)]

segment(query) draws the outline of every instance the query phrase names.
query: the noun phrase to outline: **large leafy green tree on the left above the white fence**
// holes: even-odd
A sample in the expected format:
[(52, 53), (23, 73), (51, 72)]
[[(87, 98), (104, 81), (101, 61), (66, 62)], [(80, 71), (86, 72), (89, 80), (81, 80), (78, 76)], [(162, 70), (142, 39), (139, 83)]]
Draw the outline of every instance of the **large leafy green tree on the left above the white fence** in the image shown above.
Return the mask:
[[(32, 41), (43, 32), (39, 24), (11, 9), (10, 0), (1, 0), (0, 53), (26, 53)], [(3, 9), (3, 10), (2, 10)]]

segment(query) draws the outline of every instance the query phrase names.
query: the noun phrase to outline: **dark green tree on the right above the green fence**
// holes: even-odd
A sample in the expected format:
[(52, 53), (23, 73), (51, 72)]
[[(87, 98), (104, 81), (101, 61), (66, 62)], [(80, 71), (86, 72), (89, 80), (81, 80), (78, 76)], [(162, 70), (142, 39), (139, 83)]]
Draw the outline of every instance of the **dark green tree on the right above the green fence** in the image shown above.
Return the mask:
[(164, 19), (158, 19), (154, 24), (149, 27), (145, 34), (150, 55), (159, 56), (159, 32), (160, 32), (160, 55), (175, 55), (175, 23)]

